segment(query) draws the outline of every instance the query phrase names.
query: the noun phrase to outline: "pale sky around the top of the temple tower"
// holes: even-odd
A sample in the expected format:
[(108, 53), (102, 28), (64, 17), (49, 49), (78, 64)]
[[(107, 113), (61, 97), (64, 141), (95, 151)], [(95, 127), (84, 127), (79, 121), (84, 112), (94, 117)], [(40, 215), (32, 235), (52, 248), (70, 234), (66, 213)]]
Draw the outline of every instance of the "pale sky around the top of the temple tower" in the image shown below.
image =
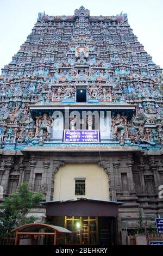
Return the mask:
[(39, 12), (73, 15), (81, 5), (90, 10), (90, 15), (127, 13), (134, 34), (153, 62), (163, 68), (162, 0), (0, 0), (0, 69), (26, 41)]

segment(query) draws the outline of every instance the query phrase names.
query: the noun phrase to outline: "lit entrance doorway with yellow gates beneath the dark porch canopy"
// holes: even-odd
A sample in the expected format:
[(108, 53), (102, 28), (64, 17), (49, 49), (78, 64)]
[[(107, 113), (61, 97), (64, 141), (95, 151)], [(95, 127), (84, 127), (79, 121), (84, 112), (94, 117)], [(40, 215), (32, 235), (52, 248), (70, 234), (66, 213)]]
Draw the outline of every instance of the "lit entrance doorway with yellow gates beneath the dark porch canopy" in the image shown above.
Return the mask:
[(49, 221), (72, 232), (67, 245), (117, 245), (115, 217), (56, 216)]

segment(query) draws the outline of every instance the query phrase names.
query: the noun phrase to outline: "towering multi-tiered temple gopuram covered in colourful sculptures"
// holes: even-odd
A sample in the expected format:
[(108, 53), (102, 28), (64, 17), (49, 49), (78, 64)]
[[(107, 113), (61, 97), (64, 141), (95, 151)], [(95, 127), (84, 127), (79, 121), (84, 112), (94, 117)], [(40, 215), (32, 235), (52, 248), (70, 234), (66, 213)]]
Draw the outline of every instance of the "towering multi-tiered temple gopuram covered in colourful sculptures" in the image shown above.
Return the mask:
[(36, 216), (71, 244), (124, 241), (139, 208), (147, 224), (163, 217), (161, 88), (127, 14), (39, 13), (0, 76), (3, 197), (28, 182), (45, 195)]

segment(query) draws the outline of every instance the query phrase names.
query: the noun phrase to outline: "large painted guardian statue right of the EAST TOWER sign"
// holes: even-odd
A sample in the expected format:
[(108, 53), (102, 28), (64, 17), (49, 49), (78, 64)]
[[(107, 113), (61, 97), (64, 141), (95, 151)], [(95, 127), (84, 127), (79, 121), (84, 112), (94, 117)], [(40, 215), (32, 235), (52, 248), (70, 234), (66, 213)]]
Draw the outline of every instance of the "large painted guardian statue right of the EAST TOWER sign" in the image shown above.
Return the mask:
[(122, 137), (128, 138), (126, 117), (124, 117), (121, 114), (117, 114), (116, 117), (112, 117), (111, 126), (112, 126), (112, 136), (114, 139), (122, 138)]

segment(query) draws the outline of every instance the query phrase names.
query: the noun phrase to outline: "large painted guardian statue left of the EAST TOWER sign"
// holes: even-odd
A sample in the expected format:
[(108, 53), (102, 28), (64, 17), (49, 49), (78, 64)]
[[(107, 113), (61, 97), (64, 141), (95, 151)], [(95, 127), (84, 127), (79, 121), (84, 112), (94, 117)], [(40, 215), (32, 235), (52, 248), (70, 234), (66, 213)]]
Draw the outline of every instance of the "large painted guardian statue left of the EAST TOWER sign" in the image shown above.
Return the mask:
[(53, 119), (48, 114), (43, 114), (41, 117), (36, 117), (36, 132), (35, 137), (48, 136), (52, 133)]

